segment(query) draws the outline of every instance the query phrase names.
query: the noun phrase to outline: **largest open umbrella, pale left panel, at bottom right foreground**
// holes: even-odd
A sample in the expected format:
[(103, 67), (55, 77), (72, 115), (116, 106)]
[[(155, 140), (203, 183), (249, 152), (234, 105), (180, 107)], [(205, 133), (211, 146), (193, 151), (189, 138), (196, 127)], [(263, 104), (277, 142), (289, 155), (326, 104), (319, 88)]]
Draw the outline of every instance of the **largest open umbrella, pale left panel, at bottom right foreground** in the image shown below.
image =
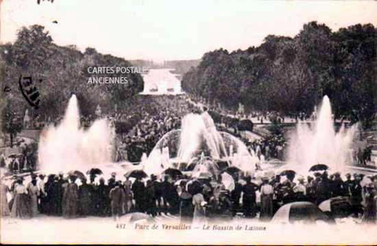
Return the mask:
[(317, 220), (327, 223), (333, 222), (311, 202), (291, 202), (281, 206), (275, 215), (273, 215), (271, 222), (295, 223), (297, 221), (303, 221), (304, 223), (315, 223)]

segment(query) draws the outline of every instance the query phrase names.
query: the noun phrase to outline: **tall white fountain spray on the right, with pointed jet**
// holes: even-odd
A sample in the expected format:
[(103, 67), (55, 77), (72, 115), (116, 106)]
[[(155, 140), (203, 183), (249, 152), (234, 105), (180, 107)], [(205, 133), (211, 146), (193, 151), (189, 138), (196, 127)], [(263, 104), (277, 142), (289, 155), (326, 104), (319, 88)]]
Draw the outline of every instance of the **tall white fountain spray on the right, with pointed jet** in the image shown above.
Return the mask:
[(315, 115), (311, 126), (304, 122), (297, 124), (289, 145), (288, 163), (302, 172), (318, 163), (328, 165), (332, 172), (343, 172), (350, 164), (350, 147), (357, 126), (346, 130), (342, 125), (336, 133), (328, 96), (324, 96)]

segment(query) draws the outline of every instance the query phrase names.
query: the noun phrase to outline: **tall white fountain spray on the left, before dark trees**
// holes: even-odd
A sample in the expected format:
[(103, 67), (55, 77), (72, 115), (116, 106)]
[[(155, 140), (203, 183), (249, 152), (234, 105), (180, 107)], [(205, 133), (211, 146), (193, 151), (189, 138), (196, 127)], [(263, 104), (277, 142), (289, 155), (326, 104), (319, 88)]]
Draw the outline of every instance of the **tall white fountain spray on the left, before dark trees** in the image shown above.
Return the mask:
[(62, 122), (50, 125), (40, 134), (39, 167), (43, 172), (58, 173), (108, 165), (111, 161), (114, 129), (104, 120), (96, 120), (88, 130), (80, 128), (80, 114), (75, 95)]

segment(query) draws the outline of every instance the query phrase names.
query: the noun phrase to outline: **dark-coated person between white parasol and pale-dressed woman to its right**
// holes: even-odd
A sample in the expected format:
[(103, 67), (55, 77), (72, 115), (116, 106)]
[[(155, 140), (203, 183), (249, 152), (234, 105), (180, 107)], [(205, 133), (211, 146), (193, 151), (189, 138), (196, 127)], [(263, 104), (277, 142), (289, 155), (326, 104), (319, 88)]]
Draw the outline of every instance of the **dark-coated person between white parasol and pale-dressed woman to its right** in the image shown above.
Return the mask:
[(256, 216), (256, 191), (258, 191), (259, 187), (252, 182), (250, 176), (247, 176), (245, 180), (246, 184), (242, 187), (243, 215), (254, 218)]

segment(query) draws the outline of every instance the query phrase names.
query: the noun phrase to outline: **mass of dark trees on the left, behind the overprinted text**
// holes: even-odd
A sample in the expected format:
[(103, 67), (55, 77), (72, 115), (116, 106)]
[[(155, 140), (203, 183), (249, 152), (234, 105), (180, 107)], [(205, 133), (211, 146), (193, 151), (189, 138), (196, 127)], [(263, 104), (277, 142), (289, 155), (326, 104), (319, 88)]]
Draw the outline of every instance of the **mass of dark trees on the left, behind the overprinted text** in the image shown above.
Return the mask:
[[(40, 25), (23, 27), (14, 44), (0, 46), (0, 63), (5, 66), (2, 88), (10, 87), (6, 94), (12, 100), (14, 111), (24, 113), (29, 109), (32, 118), (40, 120), (58, 118), (64, 113), (72, 94), (76, 94), (80, 113), (94, 115), (97, 105), (106, 112), (127, 113), (132, 109), (138, 92), (143, 91), (141, 74), (88, 74), (88, 67), (130, 67), (129, 61), (112, 55), (103, 55), (87, 48), (84, 53), (73, 45), (58, 46)], [(40, 107), (30, 107), (19, 90), (19, 77), (31, 76), (40, 94)], [(126, 84), (90, 84), (89, 77), (127, 77)], [(39, 82), (39, 80), (42, 80)]]

